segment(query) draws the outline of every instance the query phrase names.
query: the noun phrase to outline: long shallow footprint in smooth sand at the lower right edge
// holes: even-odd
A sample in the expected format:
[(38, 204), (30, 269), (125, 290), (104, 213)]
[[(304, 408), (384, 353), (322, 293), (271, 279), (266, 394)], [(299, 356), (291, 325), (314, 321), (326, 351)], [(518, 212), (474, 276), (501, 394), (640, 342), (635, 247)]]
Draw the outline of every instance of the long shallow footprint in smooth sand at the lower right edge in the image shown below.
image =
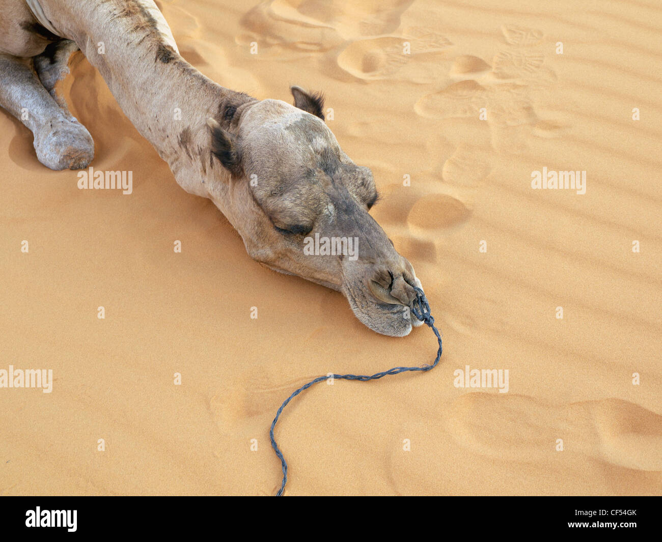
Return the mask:
[(662, 470), (662, 416), (616, 399), (550, 406), (528, 396), (470, 392), (446, 411), (463, 447), (495, 459), (543, 461), (565, 450), (626, 469)]

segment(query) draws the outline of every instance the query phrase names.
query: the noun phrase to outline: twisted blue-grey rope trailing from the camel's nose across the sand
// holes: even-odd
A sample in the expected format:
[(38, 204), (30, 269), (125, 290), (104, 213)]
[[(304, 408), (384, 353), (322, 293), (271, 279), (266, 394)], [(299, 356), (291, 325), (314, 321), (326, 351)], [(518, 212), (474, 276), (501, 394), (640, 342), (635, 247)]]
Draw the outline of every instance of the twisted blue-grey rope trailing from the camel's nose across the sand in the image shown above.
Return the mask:
[(293, 400), (293, 398), (295, 398), (297, 395), (303, 392), (303, 390), (307, 390), (308, 388), (310, 388), (312, 384), (317, 384), (318, 382), (322, 382), (330, 378), (344, 379), (344, 380), (358, 380), (365, 382), (369, 380), (381, 379), (381, 377), (385, 377), (386, 375), (398, 375), (399, 373), (404, 373), (406, 371), (430, 371), (430, 369), (434, 369), (437, 363), (439, 363), (439, 359), (440, 357), (442, 357), (442, 337), (439, 334), (439, 330), (434, 326), (434, 318), (432, 318), (432, 314), (430, 314), (430, 305), (428, 304), (428, 299), (426, 298), (425, 294), (420, 288), (414, 287), (414, 290), (416, 291), (416, 298), (414, 299), (414, 302), (412, 304), (411, 311), (414, 314), (414, 316), (418, 318), (418, 320), (425, 322), (426, 324), (428, 324), (428, 326), (430, 326), (430, 328), (432, 328), (432, 331), (434, 331), (434, 334), (437, 336), (437, 341), (439, 342), (439, 349), (437, 351), (437, 357), (434, 360), (434, 363), (432, 363), (432, 365), (423, 365), (422, 367), (393, 367), (393, 369), (389, 369), (388, 371), (382, 371), (381, 373), (375, 373), (374, 375), (371, 376), (328, 375), (326, 377), (318, 377), (310, 381), (308, 384), (301, 386), (301, 388), (299, 388), (297, 391), (291, 394), (291, 396), (285, 399), (283, 404), (281, 404), (281, 408), (279, 408), (278, 412), (276, 412), (276, 417), (273, 418), (273, 422), (271, 422), (271, 431), (269, 431), (269, 437), (271, 437), (271, 447), (273, 448), (273, 451), (275, 451), (276, 455), (281, 460), (281, 464), (283, 465), (283, 482), (281, 483), (281, 488), (278, 490), (276, 494), (277, 497), (283, 495), (283, 490), (285, 490), (285, 484), (287, 484), (287, 461), (285, 461), (283, 452), (281, 452), (281, 449), (276, 444), (276, 439), (273, 437), (273, 429), (276, 426), (276, 422), (278, 421), (281, 412), (283, 412), (283, 408), (285, 408), (285, 406), (287, 406), (287, 404), (291, 400)]

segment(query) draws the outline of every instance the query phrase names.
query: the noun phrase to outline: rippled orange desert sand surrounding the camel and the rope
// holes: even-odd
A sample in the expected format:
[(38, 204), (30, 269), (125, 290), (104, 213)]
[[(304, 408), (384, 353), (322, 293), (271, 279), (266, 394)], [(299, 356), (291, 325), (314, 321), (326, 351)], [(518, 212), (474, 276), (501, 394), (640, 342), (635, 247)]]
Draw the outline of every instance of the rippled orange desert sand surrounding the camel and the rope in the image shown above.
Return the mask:
[[(326, 93), (444, 334), (430, 373), (290, 404), (285, 494), (662, 492), (656, 0), (158, 5), (221, 85)], [(0, 389), (0, 494), (274, 494), (269, 425), (293, 390), (431, 363), (434, 335), (375, 334), (340, 293), (250, 259), (79, 52), (70, 67), (93, 167), (132, 171), (133, 192), (79, 190), (0, 114), (0, 369), (54, 375), (50, 394)], [(532, 189), (544, 167), (586, 171), (586, 193)], [(508, 369), (508, 392), (455, 386), (467, 365)]]

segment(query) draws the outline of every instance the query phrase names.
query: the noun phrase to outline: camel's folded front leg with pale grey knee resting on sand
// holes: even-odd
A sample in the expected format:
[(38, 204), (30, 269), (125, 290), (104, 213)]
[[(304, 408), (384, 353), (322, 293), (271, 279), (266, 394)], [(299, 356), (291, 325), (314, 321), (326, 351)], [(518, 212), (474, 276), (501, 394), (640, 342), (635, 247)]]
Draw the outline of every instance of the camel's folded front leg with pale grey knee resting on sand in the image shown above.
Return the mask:
[[(34, 64), (31, 59), (0, 54), (0, 106), (30, 129), (37, 158), (46, 167), (87, 167), (94, 157), (92, 136), (71, 116), (64, 101), (56, 101), (46, 90), (32, 68)], [(44, 66), (46, 83), (52, 81), (51, 75)]]

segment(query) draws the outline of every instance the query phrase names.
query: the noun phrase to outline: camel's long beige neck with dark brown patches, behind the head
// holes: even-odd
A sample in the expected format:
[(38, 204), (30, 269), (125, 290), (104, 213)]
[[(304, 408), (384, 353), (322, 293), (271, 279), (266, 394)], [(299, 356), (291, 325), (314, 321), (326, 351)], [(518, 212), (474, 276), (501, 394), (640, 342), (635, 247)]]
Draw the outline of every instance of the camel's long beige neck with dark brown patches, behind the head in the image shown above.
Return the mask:
[(40, 0), (40, 5), (58, 34), (75, 41), (99, 69), (124, 114), (175, 177), (184, 170), (206, 171), (207, 118), (232, 131), (236, 111), (254, 100), (214, 83), (184, 60), (150, 0)]

